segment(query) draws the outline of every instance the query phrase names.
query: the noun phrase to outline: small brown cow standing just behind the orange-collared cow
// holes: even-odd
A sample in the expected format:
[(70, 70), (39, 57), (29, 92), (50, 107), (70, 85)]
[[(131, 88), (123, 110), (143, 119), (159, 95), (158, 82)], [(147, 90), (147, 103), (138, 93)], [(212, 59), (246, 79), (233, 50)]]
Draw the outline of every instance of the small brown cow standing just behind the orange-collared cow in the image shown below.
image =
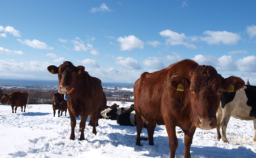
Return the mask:
[(53, 108), (53, 117), (55, 117), (55, 110), (58, 110), (58, 117), (59, 113), (65, 111), (65, 116), (67, 114), (67, 101), (64, 99), (64, 95), (60, 93), (55, 93), (52, 97), (52, 108)]

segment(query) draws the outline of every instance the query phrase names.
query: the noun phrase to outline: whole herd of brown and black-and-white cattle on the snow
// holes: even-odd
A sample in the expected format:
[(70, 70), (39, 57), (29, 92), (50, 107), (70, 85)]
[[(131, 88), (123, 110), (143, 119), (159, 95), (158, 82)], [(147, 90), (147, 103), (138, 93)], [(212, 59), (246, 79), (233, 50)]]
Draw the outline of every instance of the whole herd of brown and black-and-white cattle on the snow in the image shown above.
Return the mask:
[[(253, 120), (256, 141), (256, 86), (248, 86), (235, 76), (223, 78), (212, 66), (198, 65), (193, 60), (181, 60), (153, 73), (144, 72), (134, 83), (134, 105), (131, 107), (107, 106), (101, 80), (91, 77), (84, 66), (64, 62), (59, 67), (48, 66), (48, 71), (58, 74), (58, 93), (52, 98), (53, 116), (58, 117), (67, 110), (70, 114), (71, 135), (75, 139), (75, 117), (81, 116), (80, 140), (84, 140), (87, 117), (89, 125), (96, 126), (100, 118), (117, 120), (120, 125), (136, 126), (137, 141), (143, 127), (148, 131), (149, 145), (154, 145), (156, 125), (165, 125), (169, 137), (170, 158), (175, 157), (178, 147), (175, 126), (184, 132), (184, 157), (190, 157), (190, 146), (195, 129), (217, 129), (218, 140), (226, 138), (230, 117)], [(26, 92), (4, 94), (0, 104), (9, 103), (12, 113), (17, 107), (24, 112), (27, 104)], [(59, 115), (61, 112), (61, 115)]]

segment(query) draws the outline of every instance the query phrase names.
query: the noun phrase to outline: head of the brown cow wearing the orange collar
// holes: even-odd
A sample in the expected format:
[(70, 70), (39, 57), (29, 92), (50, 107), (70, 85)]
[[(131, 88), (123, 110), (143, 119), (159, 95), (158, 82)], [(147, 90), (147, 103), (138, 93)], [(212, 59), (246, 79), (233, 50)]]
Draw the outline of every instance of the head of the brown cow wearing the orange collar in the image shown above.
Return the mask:
[(65, 94), (69, 92), (76, 83), (76, 75), (84, 73), (84, 66), (74, 66), (71, 62), (66, 61), (59, 67), (50, 65), (47, 70), (52, 74), (58, 74), (59, 93)]

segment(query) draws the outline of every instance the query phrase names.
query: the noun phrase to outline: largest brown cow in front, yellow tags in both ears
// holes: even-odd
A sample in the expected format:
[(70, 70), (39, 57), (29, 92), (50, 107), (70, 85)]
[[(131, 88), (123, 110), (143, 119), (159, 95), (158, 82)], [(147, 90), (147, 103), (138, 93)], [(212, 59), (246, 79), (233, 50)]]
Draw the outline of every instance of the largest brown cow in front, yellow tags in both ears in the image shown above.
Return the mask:
[[(233, 86), (232, 86), (233, 85)], [(184, 131), (184, 157), (190, 157), (190, 146), (196, 127), (216, 128), (216, 112), (221, 92), (235, 92), (244, 86), (239, 77), (222, 78), (212, 66), (182, 60), (160, 71), (144, 72), (134, 84), (134, 106), (137, 120), (137, 141), (143, 122), (147, 125), (149, 145), (154, 145), (156, 124), (165, 125), (169, 137), (170, 158), (178, 147), (175, 126)]]

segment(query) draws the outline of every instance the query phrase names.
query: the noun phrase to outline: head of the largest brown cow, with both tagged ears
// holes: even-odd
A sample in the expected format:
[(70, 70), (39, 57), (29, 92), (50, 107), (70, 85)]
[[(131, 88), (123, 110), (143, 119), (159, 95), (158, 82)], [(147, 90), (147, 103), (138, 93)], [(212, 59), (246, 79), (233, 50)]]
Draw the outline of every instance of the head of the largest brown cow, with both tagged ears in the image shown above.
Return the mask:
[(190, 93), (194, 125), (201, 129), (213, 129), (216, 128), (221, 92), (236, 92), (244, 86), (244, 81), (234, 76), (224, 79), (212, 66), (200, 65), (192, 72), (191, 78), (177, 77), (171, 84), (176, 89), (182, 84), (184, 92)]

